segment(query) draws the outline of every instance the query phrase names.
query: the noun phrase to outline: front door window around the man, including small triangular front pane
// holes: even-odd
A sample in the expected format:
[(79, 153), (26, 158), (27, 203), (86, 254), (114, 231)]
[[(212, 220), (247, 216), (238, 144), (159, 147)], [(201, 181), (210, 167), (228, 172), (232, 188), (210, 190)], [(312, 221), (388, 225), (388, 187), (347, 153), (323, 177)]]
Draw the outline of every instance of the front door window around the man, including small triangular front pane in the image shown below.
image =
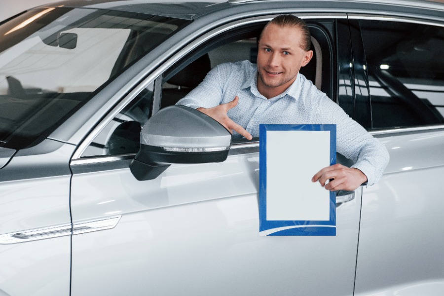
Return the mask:
[[(141, 127), (152, 113), (175, 105), (195, 88), (212, 68), (221, 63), (242, 60), (256, 63), (257, 37), (264, 24), (265, 22), (224, 32), (221, 36), (209, 40), (184, 56), (156, 79), (159, 83), (151, 83), (129, 106), (115, 116), (85, 149), (81, 157), (136, 153), (140, 146)], [(318, 27), (313, 26), (310, 29), (314, 33), (312, 49), (315, 57), (309, 65), (301, 69), (301, 73), (312, 80), (318, 88), (331, 94), (331, 79), (322, 79), (322, 73), (328, 74), (331, 68), (331, 60), (328, 58), (330, 57), (329, 42), (326, 41), (324, 32)], [(323, 57), (327, 57), (326, 61), (323, 61)], [(156, 105), (157, 102), (160, 106)], [(232, 143), (245, 141), (247, 140), (233, 139)]]

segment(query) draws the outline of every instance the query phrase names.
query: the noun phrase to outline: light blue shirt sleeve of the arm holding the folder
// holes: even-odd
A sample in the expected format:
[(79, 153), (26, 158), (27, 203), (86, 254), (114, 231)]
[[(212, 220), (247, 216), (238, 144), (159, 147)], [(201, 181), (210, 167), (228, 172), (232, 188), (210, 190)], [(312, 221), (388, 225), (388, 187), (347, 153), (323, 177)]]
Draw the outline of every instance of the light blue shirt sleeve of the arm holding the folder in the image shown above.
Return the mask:
[(352, 167), (367, 176), (369, 186), (375, 184), (382, 177), (389, 161), (389, 153), (385, 146), (325, 94), (315, 110), (323, 113), (324, 118), (327, 117), (326, 122), (336, 124), (337, 152), (355, 163)]

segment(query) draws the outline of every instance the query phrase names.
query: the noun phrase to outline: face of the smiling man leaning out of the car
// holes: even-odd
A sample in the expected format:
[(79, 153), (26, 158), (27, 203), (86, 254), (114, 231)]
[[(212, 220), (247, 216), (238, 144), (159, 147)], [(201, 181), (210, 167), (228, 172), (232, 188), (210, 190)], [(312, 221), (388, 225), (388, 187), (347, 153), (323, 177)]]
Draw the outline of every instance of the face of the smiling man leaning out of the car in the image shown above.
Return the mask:
[(275, 24), (262, 32), (257, 62), (258, 90), (265, 97), (284, 92), (296, 80), (300, 67), (310, 61), (313, 52), (300, 47), (301, 37), (300, 29)]

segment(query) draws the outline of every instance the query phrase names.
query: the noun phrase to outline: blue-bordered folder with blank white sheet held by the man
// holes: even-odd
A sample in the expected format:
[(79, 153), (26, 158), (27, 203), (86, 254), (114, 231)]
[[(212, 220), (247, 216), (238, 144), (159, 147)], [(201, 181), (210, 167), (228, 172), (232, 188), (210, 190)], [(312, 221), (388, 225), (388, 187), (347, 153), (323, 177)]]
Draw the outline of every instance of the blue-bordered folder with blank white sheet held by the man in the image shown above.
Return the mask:
[[(274, 132), (285, 132), (282, 133), (274, 133)], [(297, 132), (297, 133), (295, 133)], [(300, 134), (300, 132), (304, 132), (304, 134)], [(324, 132), (321, 134), (307, 134), (306, 132)], [(268, 147), (270, 155), (267, 157), (267, 134), (268, 134)], [(309, 136), (307, 138), (307, 136)], [(314, 137), (313, 137), (314, 136)], [(335, 192), (328, 191), (327, 189), (321, 187), (319, 182), (311, 183), (311, 177), (321, 170), (323, 167), (333, 165), (336, 163), (336, 125), (335, 124), (304, 124), (304, 125), (294, 125), (294, 124), (260, 124), (259, 126), (259, 137), (260, 137), (260, 146), (259, 146), (259, 235), (279, 235), (279, 236), (290, 236), (290, 235), (318, 235), (318, 236), (334, 236), (336, 235), (336, 197)], [(280, 137), (280, 138), (279, 138)], [(292, 140), (292, 137), (294, 140)], [(321, 137), (323, 139), (321, 144), (314, 140), (316, 137)], [(296, 143), (298, 139), (309, 139), (304, 143), (297, 142), (297, 145), (293, 145), (292, 147), (288, 147), (288, 142)], [(286, 141), (279, 141), (279, 139), (286, 139)], [(272, 142), (274, 141), (274, 142)], [(282, 142), (282, 145), (281, 145)], [(330, 147), (325, 148), (324, 146)], [(281, 146), (280, 146), (281, 145)], [(310, 164), (310, 159), (315, 159), (316, 161), (312, 161), (313, 163), (317, 163), (319, 160), (315, 154), (317, 145), (322, 145), (321, 147), (323, 152), (323, 158), (321, 163), (325, 163), (323, 167), (316, 168), (314, 172), (298, 172), (299, 169), (298, 163), (292, 163), (297, 159), (302, 160), (301, 162), (306, 162)], [(271, 149), (271, 147), (273, 147)], [(327, 149), (330, 149), (328, 152)], [(281, 151), (282, 150), (282, 151)], [(289, 151), (292, 153), (290, 154)], [(293, 152), (294, 151), (294, 152)], [(305, 152), (301, 151), (309, 151), (308, 154), (313, 155), (305, 155)], [(273, 153), (273, 154), (272, 154)], [(293, 154), (295, 153), (295, 154)], [(297, 154), (299, 153), (299, 154)], [(329, 154), (328, 154), (329, 153)], [(327, 155), (324, 155), (327, 154)], [(294, 156), (292, 156), (294, 155)], [(311, 156), (311, 158), (310, 158)], [(329, 158), (327, 158), (329, 157)], [(276, 163), (276, 159), (282, 159), (279, 163)], [(288, 159), (288, 161), (287, 161)], [(267, 161), (268, 169), (270, 172), (273, 172), (273, 176), (269, 176), (267, 179)], [(273, 162), (274, 161), (274, 162)], [(273, 170), (271, 170), (273, 168)], [(278, 168), (278, 169), (276, 169)], [(280, 168), (282, 171), (294, 170), (295, 174), (303, 173), (308, 174), (310, 177), (303, 178), (302, 181), (298, 180), (299, 183), (296, 182), (294, 184), (289, 184), (292, 181), (292, 176), (279, 176), (281, 174)], [(270, 173), (271, 174), (271, 173)], [(289, 179), (290, 178), (290, 179)], [(282, 181), (281, 181), (282, 179)], [(285, 180), (287, 179), (287, 180)], [(289, 180), (288, 180), (289, 179)], [(269, 181), (269, 190), (267, 195), (267, 180)], [(282, 184), (279, 184), (282, 182)], [(284, 184), (285, 182), (285, 184)], [(303, 182), (303, 183), (300, 183)], [(311, 184), (310, 184), (311, 183)], [(272, 184), (272, 185), (271, 185)], [(298, 185), (298, 184), (303, 184)], [(281, 186), (282, 187), (279, 187)], [(304, 189), (304, 193), (298, 192), (298, 187), (301, 188), (312, 188), (312, 186), (318, 185), (320, 189), (314, 188), (316, 194), (315, 196), (310, 196), (312, 191), (311, 189)], [(271, 187), (273, 186), (273, 187)], [(277, 190), (276, 188), (279, 188)], [(282, 190), (284, 191), (280, 191)], [(287, 189), (287, 188), (291, 188)], [(317, 191), (316, 191), (317, 190)], [(320, 193), (318, 193), (320, 192)], [(325, 192), (325, 196), (324, 196)], [(281, 196), (282, 195), (282, 196)], [(303, 195), (303, 196), (302, 196)], [(312, 199), (313, 198), (313, 199)], [(294, 200), (293, 200), (294, 199)], [(288, 204), (282, 204), (282, 208), (279, 208), (280, 200), (288, 201)], [(304, 201), (304, 202), (298, 202)], [(315, 202), (316, 201), (316, 202)], [(268, 205), (268, 207), (267, 207)], [(319, 205), (319, 213), (318, 211)], [(309, 207), (307, 210), (308, 213), (304, 215), (304, 207)], [(283, 209), (282, 215), (280, 215), (280, 210)], [(296, 213), (293, 215), (293, 213)], [(301, 213), (301, 214), (297, 214)], [(314, 214), (313, 214), (314, 213)], [(267, 215), (268, 214), (268, 215)], [(318, 215), (319, 214), (319, 215)], [(284, 217), (281, 218), (280, 217)], [(297, 220), (294, 220), (296, 217)], [(298, 219), (298, 217), (318, 217), (314, 219), (318, 220), (307, 220)], [(323, 217), (319, 219), (319, 217)]]

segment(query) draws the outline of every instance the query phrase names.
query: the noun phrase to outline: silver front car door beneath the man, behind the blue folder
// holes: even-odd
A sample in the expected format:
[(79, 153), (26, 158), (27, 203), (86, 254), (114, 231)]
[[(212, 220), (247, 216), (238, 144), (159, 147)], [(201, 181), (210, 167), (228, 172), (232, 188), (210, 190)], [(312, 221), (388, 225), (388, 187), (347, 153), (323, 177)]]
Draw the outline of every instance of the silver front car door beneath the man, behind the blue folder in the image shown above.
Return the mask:
[[(121, 124), (139, 122), (141, 111), (155, 113), (167, 76), (201, 56), (200, 45), (211, 48), (228, 29), (271, 18), (228, 23), (195, 40), (161, 74), (148, 76), (74, 154), (72, 295), (353, 293), (361, 188), (337, 204), (336, 236), (261, 237), (258, 141), (233, 143), (222, 163), (173, 164), (153, 180), (138, 181), (129, 169), (135, 153), (121, 134), (138, 135), (140, 124), (120, 133)], [(315, 26), (316, 15), (306, 18)], [(179, 62), (170, 67), (171, 61)], [(323, 77), (333, 88), (329, 64)], [(149, 104), (152, 110), (144, 110)], [(113, 154), (112, 147), (121, 149)]]

